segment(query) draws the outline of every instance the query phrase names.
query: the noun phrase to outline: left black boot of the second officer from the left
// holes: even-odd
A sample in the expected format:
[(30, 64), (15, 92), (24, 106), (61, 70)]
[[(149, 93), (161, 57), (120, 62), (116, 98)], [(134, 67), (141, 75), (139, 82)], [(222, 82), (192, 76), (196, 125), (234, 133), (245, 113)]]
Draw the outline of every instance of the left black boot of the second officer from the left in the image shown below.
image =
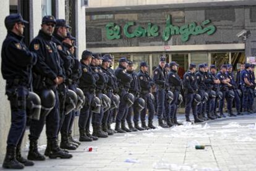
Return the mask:
[(36, 140), (30, 140), (27, 159), (31, 161), (45, 161), (45, 156), (43, 156), (42, 154), (40, 154), (40, 152), (38, 152)]

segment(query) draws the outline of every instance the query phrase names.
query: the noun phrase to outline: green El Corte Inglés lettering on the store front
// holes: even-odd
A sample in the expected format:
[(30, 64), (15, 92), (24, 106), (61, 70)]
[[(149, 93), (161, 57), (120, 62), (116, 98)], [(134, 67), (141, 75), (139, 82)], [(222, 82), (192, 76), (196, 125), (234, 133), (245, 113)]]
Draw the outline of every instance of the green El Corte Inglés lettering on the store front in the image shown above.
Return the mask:
[[(166, 26), (163, 29), (162, 39), (163, 41), (170, 40), (173, 35), (181, 35), (181, 40), (186, 42), (189, 40), (191, 35), (202, 35), (207, 33), (207, 35), (213, 35), (216, 31), (215, 25), (210, 25), (211, 20), (205, 20), (200, 25), (195, 22), (182, 25), (181, 27), (172, 25), (171, 16), (166, 17)], [(106, 38), (108, 40), (121, 39), (121, 32), (123, 31), (124, 36), (127, 38), (139, 38), (139, 37), (156, 37), (160, 35), (160, 27), (154, 25), (153, 23), (148, 23), (147, 27), (142, 27), (136, 25), (135, 22), (127, 22), (124, 28), (121, 29), (120, 25), (116, 23), (108, 23), (106, 25)]]

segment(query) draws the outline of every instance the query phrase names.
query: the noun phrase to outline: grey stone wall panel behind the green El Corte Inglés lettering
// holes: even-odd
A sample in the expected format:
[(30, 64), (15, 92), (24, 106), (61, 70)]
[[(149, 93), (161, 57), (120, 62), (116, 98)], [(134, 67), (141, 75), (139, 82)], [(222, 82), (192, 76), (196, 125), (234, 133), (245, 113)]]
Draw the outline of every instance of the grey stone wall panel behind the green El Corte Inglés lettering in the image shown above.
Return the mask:
[[(126, 46), (164, 46), (186, 44), (228, 44), (242, 43), (236, 34), (243, 29), (256, 33), (256, 6), (238, 7), (198, 7), (184, 9), (154, 9), (129, 10), (116, 12), (88, 12), (87, 13), (87, 47), (126, 47)], [(174, 35), (169, 41), (163, 41), (161, 36), (166, 25), (166, 15), (171, 15), (173, 25), (181, 26), (191, 22), (202, 23), (210, 19), (216, 26), (213, 35), (207, 33), (190, 36), (189, 41), (182, 42), (180, 35)], [(254, 15), (253, 15), (254, 14)], [(106, 19), (108, 17), (108, 19)], [(105, 19), (104, 19), (105, 18)], [(156, 37), (126, 38), (108, 40), (106, 38), (106, 24), (114, 22), (122, 27), (125, 23), (134, 21), (137, 25), (147, 28), (147, 23), (160, 26), (160, 35)], [(132, 30), (135, 26), (132, 27)], [(123, 35), (123, 31), (122, 31)]]

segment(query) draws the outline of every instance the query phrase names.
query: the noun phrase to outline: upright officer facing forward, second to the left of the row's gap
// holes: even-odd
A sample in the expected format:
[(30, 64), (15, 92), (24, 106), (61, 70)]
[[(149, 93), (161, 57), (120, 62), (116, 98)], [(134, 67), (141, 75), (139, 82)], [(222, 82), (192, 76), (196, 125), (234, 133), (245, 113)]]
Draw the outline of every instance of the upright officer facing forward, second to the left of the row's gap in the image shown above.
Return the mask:
[(157, 86), (157, 114), (158, 114), (158, 124), (160, 127), (168, 128), (168, 125), (163, 123), (164, 115), (164, 99), (166, 94), (166, 88), (168, 87), (168, 81), (166, 80), (167, 75), (164, 69), (165, 57), (160, 58), (159, 66), (154, 70), (153, 81)]

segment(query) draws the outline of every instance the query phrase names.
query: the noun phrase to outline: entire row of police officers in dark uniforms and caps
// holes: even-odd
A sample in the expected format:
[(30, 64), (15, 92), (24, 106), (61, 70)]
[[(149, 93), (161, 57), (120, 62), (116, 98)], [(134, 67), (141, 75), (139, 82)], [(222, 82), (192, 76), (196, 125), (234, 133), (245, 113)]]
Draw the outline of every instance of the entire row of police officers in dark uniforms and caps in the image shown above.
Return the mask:
[[(161, 57), (151, 78), (147, 62), (143, 61), (138, 73), (126, 57), (119, 59), (116, 70), (111, 69), (110, 54), (83, 51), (79, 61), (74, 53), (75, 38), (64, 19), (43, 17), (41, 29), (29, 47), (23, 43), (27, 21), (19, 14), (11, 14), (4, 22), (7, 36), (2, 44), (1, 72), (11, 104), (11, 128), (2, 164), (6, 169), (23, 169), (33, 165), (32, 161), (45, 161), (45, 156), (69, 159), (69, 150), (77, 149), (81, 141), (155, 129), (155, 111), (160, 127), (181, 125), (177, 122), (177, 109), (183, 97), (187, 122), (191, 122), (191, 110), (194, 122), (226, 117), (225, 99), (229, 116), (253, 112), (254, 65), (242, 64), (234, 79), (232, 65), (222, 65), (217, 73), (215, 65), (200, 64), (196, 71), (197, 66), (190, 64), (182, 80), (177, 74), (179, 65), (167, 64), (166, 58)], [(155, 96), (151, 94), (152, 88), (156, 90)], [(237, 114), (232, 111), (233, 101)], [(72, 125), (78, 115), (79, 141), (72, 137)], [(25, 159), (20, 148), (27, 121), (30, 148)], [(44, 125), (47, 146), (41, 154), (38, 139)]]

